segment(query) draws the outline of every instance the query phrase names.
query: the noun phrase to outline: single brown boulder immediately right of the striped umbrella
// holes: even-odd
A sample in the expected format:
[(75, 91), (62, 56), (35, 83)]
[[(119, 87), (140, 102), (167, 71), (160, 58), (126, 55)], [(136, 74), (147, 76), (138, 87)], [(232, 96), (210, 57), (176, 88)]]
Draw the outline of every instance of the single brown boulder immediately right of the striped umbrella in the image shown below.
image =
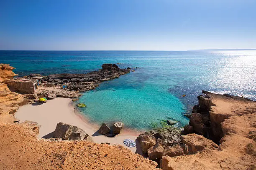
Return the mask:
[(149, 148), (156, 145), (156, 138), (148, 132), (139, 135), (137, 140), (143, 153), (147, 153)]

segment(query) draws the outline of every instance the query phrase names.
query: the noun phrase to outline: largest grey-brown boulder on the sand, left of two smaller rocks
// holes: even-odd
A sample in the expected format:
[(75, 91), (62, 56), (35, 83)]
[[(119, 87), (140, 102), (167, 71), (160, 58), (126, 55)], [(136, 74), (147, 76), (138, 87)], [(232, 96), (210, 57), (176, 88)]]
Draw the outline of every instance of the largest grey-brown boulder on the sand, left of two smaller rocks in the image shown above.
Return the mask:
[(89, 135), (77, 126), (59, 122), (54, 130), (53, 137), (61, 138), (62, 140), (87, 140)]

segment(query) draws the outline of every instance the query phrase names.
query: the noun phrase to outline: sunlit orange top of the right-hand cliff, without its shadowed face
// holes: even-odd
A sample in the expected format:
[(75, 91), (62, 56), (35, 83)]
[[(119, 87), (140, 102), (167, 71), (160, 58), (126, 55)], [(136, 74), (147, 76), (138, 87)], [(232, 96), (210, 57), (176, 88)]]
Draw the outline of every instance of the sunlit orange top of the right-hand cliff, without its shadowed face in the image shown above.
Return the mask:
[[(175, 158), (165, 156), (164, 170), (256, 169), (256, 102), (209, 93), (212, 128), (223, 137), (218, 150)], [(220, 129), (219, 129), (220, 128)]]

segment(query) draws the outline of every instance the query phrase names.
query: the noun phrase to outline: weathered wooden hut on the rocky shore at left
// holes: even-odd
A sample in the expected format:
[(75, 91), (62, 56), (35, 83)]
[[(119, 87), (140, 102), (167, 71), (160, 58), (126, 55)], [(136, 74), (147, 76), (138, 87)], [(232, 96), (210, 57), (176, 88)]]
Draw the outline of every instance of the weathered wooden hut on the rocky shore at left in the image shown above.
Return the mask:
[(33, 80), (5, 80), (8, 88), (23, 94), (35, 93), (38, 90), (37, 82)]

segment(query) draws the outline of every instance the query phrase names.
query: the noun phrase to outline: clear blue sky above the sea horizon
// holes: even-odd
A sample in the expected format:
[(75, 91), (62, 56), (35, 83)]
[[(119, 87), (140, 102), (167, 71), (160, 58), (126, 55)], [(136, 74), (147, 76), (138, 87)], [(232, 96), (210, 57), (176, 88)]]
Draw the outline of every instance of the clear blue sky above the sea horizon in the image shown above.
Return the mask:
[(0, 50), (256, 48), (256, 0), (0, 0)]

